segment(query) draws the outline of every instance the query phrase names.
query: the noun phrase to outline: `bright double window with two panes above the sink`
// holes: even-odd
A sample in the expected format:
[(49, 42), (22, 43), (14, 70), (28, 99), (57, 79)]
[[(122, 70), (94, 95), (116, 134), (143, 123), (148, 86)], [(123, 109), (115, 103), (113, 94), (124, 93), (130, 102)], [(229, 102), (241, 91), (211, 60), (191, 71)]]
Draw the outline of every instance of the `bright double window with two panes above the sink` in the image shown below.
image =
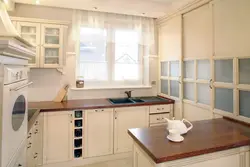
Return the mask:
[(142, 85), (139, 39), (139, 33), (129, 29), (82, 27), (78, 76), (87, 86)]

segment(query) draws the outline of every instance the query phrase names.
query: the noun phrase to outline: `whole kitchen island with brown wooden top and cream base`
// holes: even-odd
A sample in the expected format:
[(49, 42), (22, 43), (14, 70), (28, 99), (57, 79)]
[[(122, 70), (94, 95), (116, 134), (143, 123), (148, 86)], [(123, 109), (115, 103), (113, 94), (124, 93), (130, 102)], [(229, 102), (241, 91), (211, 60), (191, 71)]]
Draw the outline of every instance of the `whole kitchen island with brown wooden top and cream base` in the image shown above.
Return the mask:
[(134, 167), (249, 167), (250, 127), (227, 119), (193, 122), (184, 141), (169, 141), (165, 126), (130, 129)]

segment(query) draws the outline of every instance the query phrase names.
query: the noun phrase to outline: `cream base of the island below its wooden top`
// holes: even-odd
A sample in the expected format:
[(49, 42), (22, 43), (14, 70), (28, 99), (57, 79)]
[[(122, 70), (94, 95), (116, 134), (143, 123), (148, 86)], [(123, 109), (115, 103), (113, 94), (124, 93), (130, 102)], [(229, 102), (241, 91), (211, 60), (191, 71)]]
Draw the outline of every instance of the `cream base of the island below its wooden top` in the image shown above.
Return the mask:
[(249, 146), (156, 164), (134, 143), (133, 167), (249, 167)]

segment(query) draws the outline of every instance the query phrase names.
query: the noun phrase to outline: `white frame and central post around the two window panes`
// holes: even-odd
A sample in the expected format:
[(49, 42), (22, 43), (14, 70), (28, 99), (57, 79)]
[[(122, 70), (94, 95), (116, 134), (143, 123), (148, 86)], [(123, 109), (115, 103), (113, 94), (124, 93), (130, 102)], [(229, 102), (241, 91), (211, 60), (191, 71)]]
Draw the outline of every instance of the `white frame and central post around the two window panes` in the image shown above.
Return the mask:
[[(86, 28), (94, 28), (94, 27), (89, 27), (86, 25), (81, 25), (82, 27)], [(106, 60), (107, 60), (107, 80), (102, 81), (102, 80), (85, 80), (85, 87), (86, 88), (109, 88), (109, 87), (134, 87), (136, 86), (146, 86), (147, 83), (144, 83), (144, 58), (149, 55), (149, 52), (146, 52), (147, 47), (141, 45), (138, 43), (138, 74), (139, 78), (138, 80), (121, 80), (121, 81), (116, 81), (115, 80), (115, 45), (116, 43), (113, 42), (115, 39), (115, 31), (116, 30), (129, 30), (124, 29), (124, 28), (114, 28), (110, 26), (109, 24), (105, 24), (103, 29), (106, 29), (107, 31), (107, 41), (106, 41)], [(130, 29), (133, 31), (133, 29)], [(76, 75), (75, 78), (77, 79), (80, 77), (80, 32), (79, 33), (79, 38), (77, 39), (76, 42)], [(139, 37), (140, 38), (140, 37)], [(112, 42), (111, 42), (112, 41)], [(148, 55), (147, 55), (148, 54)], [(90, 86), (91, 85), (91, 86)], [(100, 86), (101, 85), (101, 86)]]

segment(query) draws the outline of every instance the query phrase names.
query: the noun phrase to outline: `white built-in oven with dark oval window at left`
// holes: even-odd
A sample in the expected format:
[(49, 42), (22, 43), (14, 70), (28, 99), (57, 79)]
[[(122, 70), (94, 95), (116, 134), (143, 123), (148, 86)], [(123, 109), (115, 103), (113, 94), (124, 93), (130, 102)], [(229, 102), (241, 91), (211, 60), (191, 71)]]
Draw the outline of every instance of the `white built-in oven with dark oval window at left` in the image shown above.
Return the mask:
[(1, 167), (7, 167), (25, 144), (28, 122), (28, 68), (1, 65)]

